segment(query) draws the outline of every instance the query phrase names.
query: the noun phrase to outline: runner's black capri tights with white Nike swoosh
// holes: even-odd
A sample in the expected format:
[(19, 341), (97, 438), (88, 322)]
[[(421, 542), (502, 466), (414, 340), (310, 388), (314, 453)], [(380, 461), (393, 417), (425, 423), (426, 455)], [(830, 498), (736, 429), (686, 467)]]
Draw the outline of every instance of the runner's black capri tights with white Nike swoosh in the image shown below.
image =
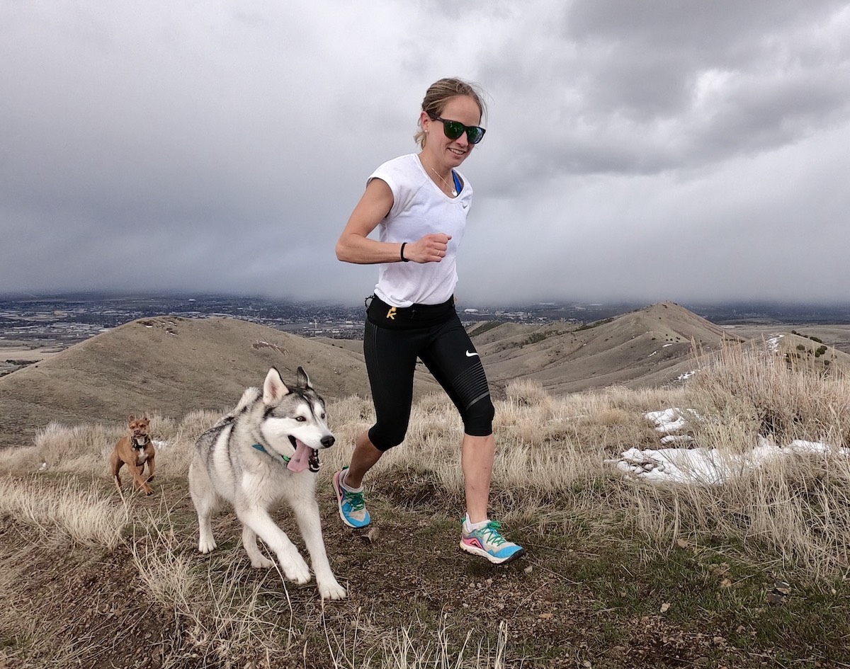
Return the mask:
[(417, 357), (461, 413), (464, 432), (492, 434), (496, 412), (490, 387), (481, 358), (456, 313), (445, 323), (418, 329), (379, 328), (366, 320), (363, 353), (377, 418), (369, 439), (378, 450), (386, 451), (405, 439)]

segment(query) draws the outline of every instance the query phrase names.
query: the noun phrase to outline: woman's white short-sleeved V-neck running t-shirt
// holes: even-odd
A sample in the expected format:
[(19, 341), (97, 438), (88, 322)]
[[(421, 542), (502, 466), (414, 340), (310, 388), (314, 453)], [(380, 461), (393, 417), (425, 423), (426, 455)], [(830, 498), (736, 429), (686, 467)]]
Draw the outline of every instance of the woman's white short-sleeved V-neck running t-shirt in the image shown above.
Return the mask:
[(386, 262), (380, 266), (375, 295), (390, 306), (442, 304), (455, 292), (457, 248), (473, 196), (472, 186), (455, 172), (463, 184), (456, 198), (446, 195), (428, 177), (416, 154), (388, 160), (368, 179), (381, 179), (393, 191), (393, 207), (378, 223), (382, 242), (411, 243), (428, 233), (451, 236), (442, 261)]

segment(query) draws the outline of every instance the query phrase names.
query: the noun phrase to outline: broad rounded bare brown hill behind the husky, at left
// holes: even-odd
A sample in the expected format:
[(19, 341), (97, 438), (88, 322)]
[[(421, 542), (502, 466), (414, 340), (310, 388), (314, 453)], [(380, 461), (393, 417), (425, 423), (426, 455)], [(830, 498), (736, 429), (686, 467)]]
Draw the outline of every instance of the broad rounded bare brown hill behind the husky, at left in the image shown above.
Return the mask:
[[(30, 443), (51, 420), (223, 411), (247, 386), (261, 385), (269, 367), (294, 381), (299, 365), (326, 398), (369, 391), (362, 354), (343, 348), (235, 318), (132, 321), (0, 378), (0, 447)], [(416, 384), (437, 387), (425, 377)]]

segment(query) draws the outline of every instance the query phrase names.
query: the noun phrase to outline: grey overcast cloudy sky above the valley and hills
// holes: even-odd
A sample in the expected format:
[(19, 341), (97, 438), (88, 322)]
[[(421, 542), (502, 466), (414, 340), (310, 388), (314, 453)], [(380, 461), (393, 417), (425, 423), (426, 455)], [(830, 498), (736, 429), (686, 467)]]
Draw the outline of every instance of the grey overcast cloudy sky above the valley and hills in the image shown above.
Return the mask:
[(0, 0), (0, 292), (356, 302), (337, 261), (443, 76), (465, 304), (850, 302), (850, 3)]

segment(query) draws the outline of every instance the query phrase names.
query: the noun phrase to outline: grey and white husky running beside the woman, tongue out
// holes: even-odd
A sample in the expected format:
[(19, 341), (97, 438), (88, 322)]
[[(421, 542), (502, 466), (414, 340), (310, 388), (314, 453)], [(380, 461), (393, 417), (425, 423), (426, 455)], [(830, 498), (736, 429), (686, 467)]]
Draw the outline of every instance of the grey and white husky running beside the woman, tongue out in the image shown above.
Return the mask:
[(277, 556), (287, 579), (308, 582), (307, 563), (269, 515), (269, 509), (286, 499), (295, 512), (322, 599), (343, 599), (345, 589), (327, 560), (315, 498), (319, 450), (333, 442), (325, 402), (303, 368), (298, 368), (294, 387), (283, 382), (277, 369), (269, 369), (262, 393), (248, 388), (233, 413), (195, 442), (189, 489), (198, 512), (198, 550), (209, 553), (216, 548), (210, 515), (224, 498), (241, 520), (242, 544), (251, 565), (275, 566), (260, 553), (260, 537)]

